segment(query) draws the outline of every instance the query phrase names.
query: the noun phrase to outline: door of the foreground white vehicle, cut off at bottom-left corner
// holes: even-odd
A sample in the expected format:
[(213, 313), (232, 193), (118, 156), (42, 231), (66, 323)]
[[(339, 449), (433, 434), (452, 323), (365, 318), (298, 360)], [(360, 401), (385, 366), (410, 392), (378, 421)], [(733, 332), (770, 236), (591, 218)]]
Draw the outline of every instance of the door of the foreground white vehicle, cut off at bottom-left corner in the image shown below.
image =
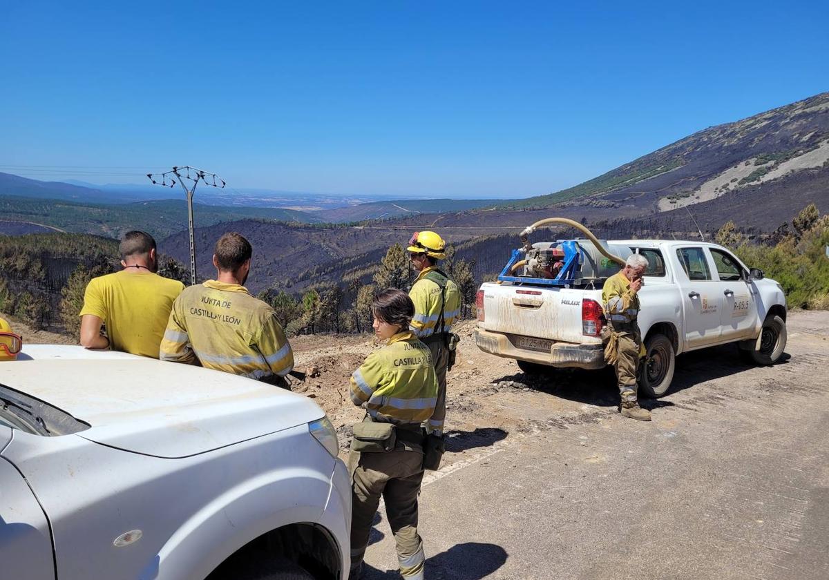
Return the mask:
[[(12, 429), (0, 415), (0, 450), (11, 438)], [(55, 578), (53, 562), (46, 515), (20, 471), (0, 453), (0, 576)]]

